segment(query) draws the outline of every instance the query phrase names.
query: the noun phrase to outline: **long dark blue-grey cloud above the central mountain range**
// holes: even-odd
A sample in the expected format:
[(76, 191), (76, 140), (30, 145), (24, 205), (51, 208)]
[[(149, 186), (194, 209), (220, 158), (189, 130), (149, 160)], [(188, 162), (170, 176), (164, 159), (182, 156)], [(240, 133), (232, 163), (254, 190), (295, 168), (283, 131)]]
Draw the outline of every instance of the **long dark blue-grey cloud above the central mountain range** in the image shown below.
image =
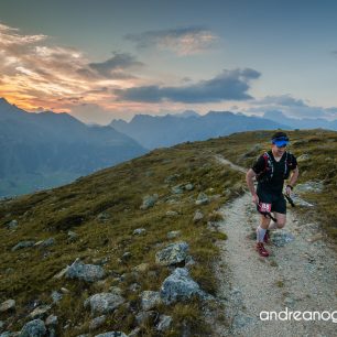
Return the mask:
[(247, 94), (251, 79), (260, 77), (253, 69), (224, 70), (218, 76), (182, 87), (143, 86), (116, 89), (119, 100), (160, 102), (218, 102), (221, 100), (246, 100), (252, 98)]

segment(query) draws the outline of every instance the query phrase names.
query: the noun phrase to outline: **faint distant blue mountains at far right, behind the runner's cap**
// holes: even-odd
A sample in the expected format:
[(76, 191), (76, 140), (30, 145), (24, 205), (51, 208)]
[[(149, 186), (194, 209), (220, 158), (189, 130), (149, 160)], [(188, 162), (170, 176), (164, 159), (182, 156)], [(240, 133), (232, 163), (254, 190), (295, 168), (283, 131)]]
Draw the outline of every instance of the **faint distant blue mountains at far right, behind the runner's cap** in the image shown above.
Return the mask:
[(327, 130), (337, 130), (337, 120), (328, 121), (324, 118), (290, 118), (286, 117), (282, 111), (272, 110), (267, 111), (263, 115), (264, 118), (274, 120), (274, 121), (282, 121), (285, 124), (291, 126), (293, 129), (327, 129)]

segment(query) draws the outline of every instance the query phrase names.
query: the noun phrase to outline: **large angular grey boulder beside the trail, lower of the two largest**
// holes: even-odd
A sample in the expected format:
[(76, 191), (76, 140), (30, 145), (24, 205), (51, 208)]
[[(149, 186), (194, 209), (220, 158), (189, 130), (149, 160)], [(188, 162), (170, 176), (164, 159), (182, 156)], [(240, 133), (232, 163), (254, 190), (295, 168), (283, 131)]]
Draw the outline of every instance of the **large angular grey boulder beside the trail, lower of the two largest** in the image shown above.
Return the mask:
[(175, 302), (188, 301), (193, 295), (200, 298), (209, 297), (199, 285), (192, 280), (186, 268), (176, 268), (174, 272), (167, 276), (161, 286), (161, 298), (170, 305)]

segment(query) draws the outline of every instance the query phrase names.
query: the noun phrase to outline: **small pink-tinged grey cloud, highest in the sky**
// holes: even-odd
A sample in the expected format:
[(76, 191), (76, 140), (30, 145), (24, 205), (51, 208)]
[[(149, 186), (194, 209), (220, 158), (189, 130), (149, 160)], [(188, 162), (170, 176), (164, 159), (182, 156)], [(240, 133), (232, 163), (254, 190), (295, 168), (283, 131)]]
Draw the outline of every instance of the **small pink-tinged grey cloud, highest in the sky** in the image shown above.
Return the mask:
[(124, 39), (135, 43), (138, 48), (170, 50), (182, 56), (208, 51), (215, 45), (218, 36), (202, 26), (187, 26), (127, 34)]

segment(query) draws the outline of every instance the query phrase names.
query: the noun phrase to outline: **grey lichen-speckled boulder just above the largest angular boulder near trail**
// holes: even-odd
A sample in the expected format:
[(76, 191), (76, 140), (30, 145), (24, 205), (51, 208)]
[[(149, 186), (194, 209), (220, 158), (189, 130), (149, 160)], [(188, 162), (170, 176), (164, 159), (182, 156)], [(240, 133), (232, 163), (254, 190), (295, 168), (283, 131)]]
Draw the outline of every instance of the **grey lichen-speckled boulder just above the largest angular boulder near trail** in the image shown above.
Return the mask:
[(185, 263), (187, 257), (188, 244), (184, 241), (171, 243), (163, 250), (155, 253), (155, 262), (161, 265), (174, 265)]

